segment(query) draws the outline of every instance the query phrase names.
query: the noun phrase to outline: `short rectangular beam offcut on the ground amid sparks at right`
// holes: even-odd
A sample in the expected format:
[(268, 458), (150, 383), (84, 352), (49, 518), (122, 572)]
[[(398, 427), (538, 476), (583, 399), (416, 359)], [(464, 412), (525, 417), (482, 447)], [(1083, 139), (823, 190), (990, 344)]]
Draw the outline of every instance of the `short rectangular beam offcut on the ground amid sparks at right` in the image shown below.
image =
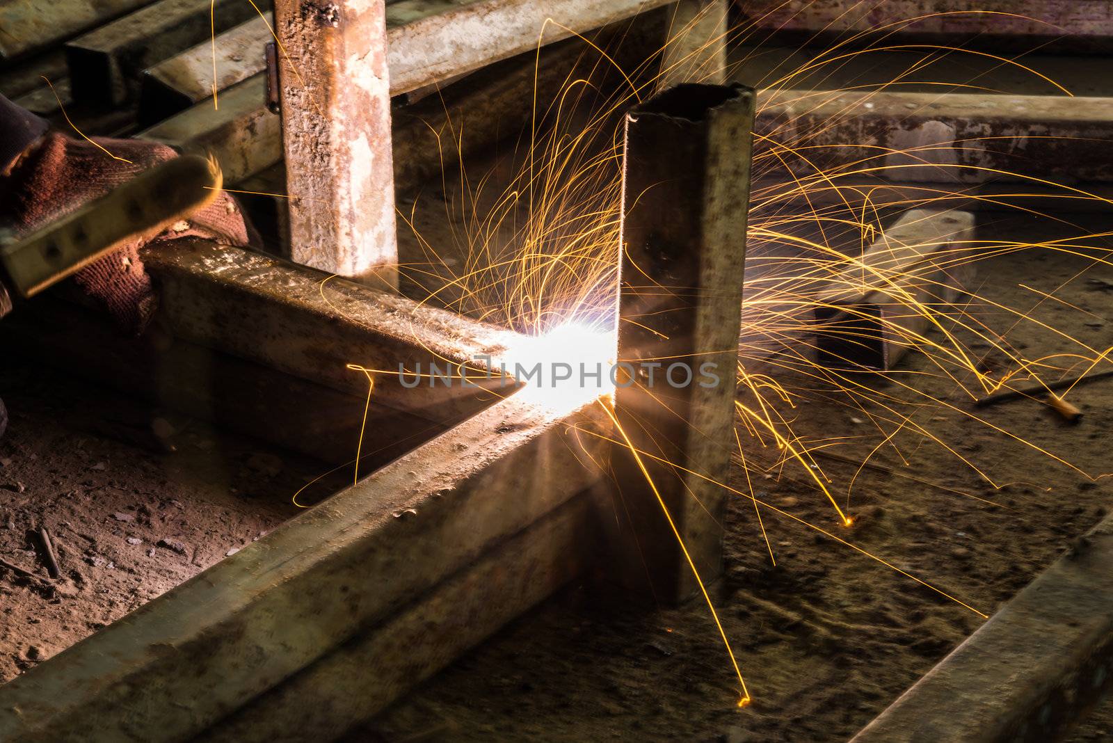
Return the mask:
[(973, 237), (969, 212), (912, 209), (861, 258), (839, 261), (816, 297), (818, 363), (892, 369), (969, 286)]

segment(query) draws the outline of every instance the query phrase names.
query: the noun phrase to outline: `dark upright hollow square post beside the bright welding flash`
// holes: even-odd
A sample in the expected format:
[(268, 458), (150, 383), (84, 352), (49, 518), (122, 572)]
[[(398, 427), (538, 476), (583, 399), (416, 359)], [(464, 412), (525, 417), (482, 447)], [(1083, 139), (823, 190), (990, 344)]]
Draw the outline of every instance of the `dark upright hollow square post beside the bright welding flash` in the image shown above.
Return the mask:
[(644, 454), (615, 453), (613, 559), (664, 602), (697, 588), (684, 549), (722, 567), (754, 101), (681, 85), (627, 115), (615, 410)]

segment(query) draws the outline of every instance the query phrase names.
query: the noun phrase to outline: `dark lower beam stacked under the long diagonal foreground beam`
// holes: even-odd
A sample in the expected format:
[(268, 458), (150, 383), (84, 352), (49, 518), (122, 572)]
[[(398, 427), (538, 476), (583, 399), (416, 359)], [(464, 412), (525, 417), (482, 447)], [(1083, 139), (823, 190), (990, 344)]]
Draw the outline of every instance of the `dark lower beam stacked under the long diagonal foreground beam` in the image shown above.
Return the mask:
[(197, 740), (339, 737), (582, 574), (584, 546), (598, 542), (595, 507), (588, 494), (572, 498)]

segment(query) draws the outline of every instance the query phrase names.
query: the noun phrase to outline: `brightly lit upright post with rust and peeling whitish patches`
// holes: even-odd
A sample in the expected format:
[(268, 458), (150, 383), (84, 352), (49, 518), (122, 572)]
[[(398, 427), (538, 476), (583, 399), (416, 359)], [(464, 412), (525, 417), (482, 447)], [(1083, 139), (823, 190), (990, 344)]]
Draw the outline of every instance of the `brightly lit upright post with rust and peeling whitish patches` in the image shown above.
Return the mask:
[(396, 286), (384, 0), (276, 0), (275, 24), (290, 256)]

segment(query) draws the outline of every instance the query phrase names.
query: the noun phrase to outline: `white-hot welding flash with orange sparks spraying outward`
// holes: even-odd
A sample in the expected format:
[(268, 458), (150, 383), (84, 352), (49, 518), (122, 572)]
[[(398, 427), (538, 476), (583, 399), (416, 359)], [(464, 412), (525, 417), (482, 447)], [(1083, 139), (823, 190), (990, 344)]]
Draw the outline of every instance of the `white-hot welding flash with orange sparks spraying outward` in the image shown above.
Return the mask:
[[(932, 17), (944, 14), (947, 13)], [(923, 19), (907, 22), (917, 20)], [(747, 507), (752, 505), (757, 516), (757, 538), (762, 541), (772, 564), (776, 564), (776, 556), (762, 513), (782, 516), (805, 529), (849, 546), (876, 564), (984, 617), (983, 612), (955, 597), (956, 594), (946, 593), (894, 562), (759, 498), (754, 485), (759, 478), (790, 478), (789, 473), (792, 473), (795, 479), (791, 482), (812, 493), (827, 508), (833, 523), (840, 529), (853, 531), (851, 494), (858, 473), (870, 466), (880, 452), (890, 452), (907, 463), (900, 438), (912, 436), (937, 447), (944, 456), (977, 474), (989, 487), (1003, 486), (1004, 483), (997, 482), (986, 468), (961, 453), (948, 435), (935, 429), (932, 414), (939, 412), (956, 414), (966, 425), (1024, 444), (1052, 463), (1073, 467), (1065, 456), (1025, 440), (989, 418), (977, 416), (933, 393), (928, 383), (953, 385), (962, 397), (973, 402), (1023, 380), (1051, 384), (1058, 377), (1107, 363), (1109, 349), (1093, 347), (1040, 320), (1034, 307), (1002, 306), (983, 296), (975, 286), (958, 287), (967, 293), (966, 299), (953, 300), (951, 295), (956, 287), (949, 280), (964, 267), (1025, 250), (1082, 256), (1090, 259), (1091, 265), (1110, 266), (1110, 251), (1100, 247), (1100, 240), (1107, 235), (1081, 235), (1045, 242), (978, 239), (946, 242), (930, 237), (890, 241), (885, 250), (866, 255), (878, 239), (892, 237), (887, 224), (896, 211), (951, 209), (959, 199), (994, 200), (995, 206), (1001, 207), (1001, 197), (971, 195), (958, 185), (948, 189), (913, 184), (898, 189), (892, 184), (870, 180), (910, 168), (929, 168), (939, 175), (936, 179), (939, 181), (1007, 177), (1017, 184), (1013, 196), (1040, 188), (1051, 189), (1052, 198), (1072, 204), (1107, 202), (1081, 188), (1013, 172), (998, 167), (999, 164), (972, 166), (940, 157), (975, 151), (979, 146), (977, 141), (959, 139), (946, 145), (920, 143), (907, 148), (829, 141), (829, 132), (839, 123), (854, 120), (863, 110), (868, 110), (877, 95), (908, 82), (920, 63), (894, 75), (893, 80), (878, 90), (859, 91), (854, 106), (845, 109), (833, 108), (833, 101), (838, 100), (837, 93), (797, 91), (792, 89), (794, 82), (825, 69), (837, 69), (846, 60), (863, 55), (918, 49), (926, 58), (929, 50), (922, 46), (889, 42), (889, 37), (899, 29), (899, 26), (884, 26), (871, 34), (857, 34), (804, 66), (761, 81), (766, 91), (759, 99), (759, 120), (762, 120), (762, 112), (772, 111), (775, 106), (777, 111), (788, 113), (779, 120), (766, 119), (774, 123), (758, 131), (752, 164), (755, 187), (747, 234), (750, 255), (747, 257), (743, 333), (736, 375), (735, 443), (739, 482), (745, 486), (735, 488), (729, 483), (717, 484), (751, 502)], [(746, 29), (731, 30), (733, 36), (745, 33)], [(851, 49), (854, 44), (861, 48)], [(1070, 92), (1015, 60), (949, 47), (934, 49), (992, 58), (996, 63), (1027, 71)], [(505, 358), (486, 359), (480, 366), (503, 377), (512, 377), (511, 370), (521, 365), (529, 368), (541, 365), (549, 369), (550, 375), (543, 378), (542, 385), (526, 384), (523, 394), (552, 410), (573, 409), (595, 398), (604, 398), (603, 404), (608, 405), (605, 398), (614, 387), (607, 369), (615, 355), (617, 266), (613, 257), (621, 212), (618, 123), (626, 109), (652, 92), (658, 76), (648, 71), (649, 61), (636, 69), (622, 70), (619, 91), (597, 100), (590, 113), (583, 113), (585, 107), (590, 108), (591, 95), (600, 89), (593, 76), (613, 65), (611, 57), (600, 53), (598, 61), (589, 63), (591, 69), (585, 75), (570, 73), (560, 95), (553, 96), (549, 103), (542, 99), (541, 91), (535, 91), (531, 139), (524, 145), (524, 156), (515, 162), (516, 171), (509, 182), (495, 186), (495, 180), (489, 177), (473, 182), (463, 168), (459, 182), (451, 184), (446, 178), (444, 190), (455, 200), (445, 198), (445, 217), (456, 245), (433, 245), (420, 234), (413, 211), (410, 215), (400, 212), (414, 230), (425, 258), (400, 267), (401, 271), (412, 285), (425, 291), (425, 301), (521, 331), (521, 343), (510, 349)], [(810, 116), (811, 111), (820, 109), (826, 118)], [(914, 112), (909, 111), (909, 116)], [(460, 132), (452, 130), (446, 132), (445, 140), (456, 141), (459, 137)], [(909, 261), (909, 255), (926, 257)], [(940, 278), (940, 275), (946, 276)], [(664, 288), (682, 290), (684, 287)], [(843, 296), (877, 295), (892, 311), (874, 317), (861, 305), (834, 299), (831, 291)], [(1041, 301), (1058, 300), (1054, 293), (1037, 294)], [(996, 319), (987, 319), (975, 311), (976, 307), (994, 310)], [(843, 319), (817, 323), (817, 310), (825, 309), (837, 310)], [(846, 321), (848, 318), (854, 321)], [(909, 318), (917, 321), (910, 323)], [(623, 320), (638, 321), (634, 318)], [(834, 361), (830, 358), (827, 363), (819, 360), (817, 330), (827, 338), (841, 340), (843, 348), (853, 350), (864, 347), (870, 339), (863, 329), (867, 325), (874, 328), (870, 333), (884, 335), (895, 347), (918, 354), (923, 359), (919, 368), (914, 371), (867, 368), (856, 363), (853, 354)], [(1068, 344), (1071, 350), (1033, 358), (1009, 340), (1016, 326), (1050, 330)], [(998, 368), (985, 367), (989, 356), (999, 359)], [(584, 366), (592, 371), (599, 367), (602, 374), (598, 377), (590, 374), (584, 379), (580, 374)], [(560, 374), (551, 374), (558, 368)], [(571, 371), (568, 377), (554, 379), (567, 370)], [(374, 374), (398, 371), (377, 369)], [(859, 420), (858, 430), (853, 435), (806, 436), (802, 433), (806, 427), (799, 425), (798, 419), (801, 407), (812, 400), (845, 406)], [(619, 433), (615, 444), (629, 445), (624, 432)], [(824, 455), (843, 456), (835, 454), (840, 448), (866, 453), (857, 458), (845, 457), (856, 465), (851, 477), (841, 478), (821, 464)], [(638, 450), (633, 454), (639, 456)], [(1086, 474), (1094, 479), (1105, 476), (1103, 473)], [(916, 475), (899, 476), (977, 498)], [(648, 473), (647, 478), (658, 494)], [(669, 517), (667, 508), (664, 512)], [(700, 586), (702, 588), (702, 583)], [(739, 706), (745, 706), (750, 696), (738, 662), (710, 598), (708, 604), (742, 685)]]

